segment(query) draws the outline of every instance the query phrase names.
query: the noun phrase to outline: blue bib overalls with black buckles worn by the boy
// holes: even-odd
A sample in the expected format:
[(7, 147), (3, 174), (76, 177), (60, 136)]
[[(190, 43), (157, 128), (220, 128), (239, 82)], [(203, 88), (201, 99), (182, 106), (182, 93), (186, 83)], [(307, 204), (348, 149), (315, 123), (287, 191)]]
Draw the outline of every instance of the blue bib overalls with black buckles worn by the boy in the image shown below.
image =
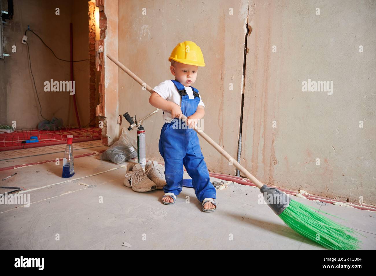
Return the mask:
[[(192, 88), (194, 99), (190, 99), (184, 86), (172, 80), (181, 97), (182, 113), (188, 117), (194, 114), (200, 103), (199, 91)], [(180, 194), (183, 184), (183, 165), (192, 178), (192, 185), (196, 197), (200, 202), (209, 197), (216, 198), (215, 188), (209, 179), (209, 171), (206, 167), (201, 152), (199, 137), (194, 129), (174, 118), (171, 123), (164, 123), (159, 137), (159, 153), (165, 162), (166, 185), (163, 187), (165, 193)]]

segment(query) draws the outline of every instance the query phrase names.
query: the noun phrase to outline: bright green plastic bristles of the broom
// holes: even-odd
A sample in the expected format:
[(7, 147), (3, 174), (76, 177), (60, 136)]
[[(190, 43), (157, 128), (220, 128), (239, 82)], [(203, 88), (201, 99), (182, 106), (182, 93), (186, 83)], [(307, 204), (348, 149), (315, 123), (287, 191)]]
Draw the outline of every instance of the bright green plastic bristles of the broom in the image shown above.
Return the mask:
[(288, 207), (279, 214), (279, 217), (294, 231), (327, 249), (359, 249), (360, 241), (352, 236), (356, 231), (338, 224), (313, 210), (320, 211), (291, 200)]

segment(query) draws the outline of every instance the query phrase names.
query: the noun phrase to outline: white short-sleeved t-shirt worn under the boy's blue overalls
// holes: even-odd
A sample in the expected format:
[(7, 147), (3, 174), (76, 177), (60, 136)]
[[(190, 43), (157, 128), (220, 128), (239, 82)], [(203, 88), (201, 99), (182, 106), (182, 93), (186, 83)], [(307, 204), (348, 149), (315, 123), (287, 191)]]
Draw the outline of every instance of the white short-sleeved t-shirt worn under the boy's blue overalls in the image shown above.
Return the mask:
[[(188, 86), (184, 86), (186, 93), (188, 94), (188, 97), (190, 99), (194, 99), (192, 88)], [(163, 99), (168, 100), (170, 102), (174, 102), (179, 106), (181, 105), (181, 97), (179, 92), (177, 92), (177, 88), (172, 82), (172, 80), (165, 80), (164, 82), (159, 83), (157, 86), (153, 88), (153, 90), (158, 93)], [(205, 107), (204, 103), (202, 102), (201, 95), (200, 96), (200, 102), (199, 105), (202, 105)], [(171, 112), (168, 112), (166, 110), (163, 110), (162, 112), (163, 120), (165, 123), (171, 123), (173, 118), (171, 117)]]

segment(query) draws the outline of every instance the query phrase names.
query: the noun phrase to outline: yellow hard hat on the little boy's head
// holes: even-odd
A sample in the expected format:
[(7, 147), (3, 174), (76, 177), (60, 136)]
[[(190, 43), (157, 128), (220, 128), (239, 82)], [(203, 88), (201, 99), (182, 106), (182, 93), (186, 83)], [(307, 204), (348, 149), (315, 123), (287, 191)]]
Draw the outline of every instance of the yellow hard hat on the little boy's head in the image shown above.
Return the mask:
[(168, 61), (177, 61), (183, 64), (205, 66), (204, 56), (201, 49), (193, 41), (184, 41), (178, 43), (172, 50)]

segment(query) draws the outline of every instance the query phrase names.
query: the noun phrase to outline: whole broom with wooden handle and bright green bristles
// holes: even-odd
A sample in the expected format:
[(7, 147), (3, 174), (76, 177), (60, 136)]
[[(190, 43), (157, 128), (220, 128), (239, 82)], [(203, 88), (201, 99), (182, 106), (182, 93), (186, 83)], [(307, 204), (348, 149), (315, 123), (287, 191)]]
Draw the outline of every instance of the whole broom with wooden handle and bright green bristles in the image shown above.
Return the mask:
[[(136, 82), (142, 86), (146, 86), (147, 91), (153, 93), (153, 89), (143, 80), (137, 77), (132, 71), (121, 64), (113, 56), (107, 54), (107, 57), (114, 62), (121, 70), (126, 72)], [(186, 117), (182, 114), (182, 120), (185, 122)], [(194, 126), (194, 130), (201, 135), (211, 146), (214, 147), (221, 155), (224, 156), (232, 165), (240, 170), (248, 179), (260, 189), (264, 195), (267, 205), (278, 215), (284, 223), (290, 226), (294, 231), (309, 240), (315, 241), (327, 249), (348, 249), (354, 250), (359, 248), (360, 241), (354, 237), (351, 228), (338, 224), (329, 218), (318, 214), (318, 209), (304, 205), (300, 202), (292, 200), (287, 194), (282, 193), (277, 188), (263, 185), (249, 171), (233, 159), (224, 149), (215, 143), (202, 129)], [(322, 212), (322, 211), (320, 211)], [(325, 213), (325, 212), (323, 212)], [(328, 213), (325, 213), (328, 214)], [(330, 214), (329, 214), (330, 215)]]

